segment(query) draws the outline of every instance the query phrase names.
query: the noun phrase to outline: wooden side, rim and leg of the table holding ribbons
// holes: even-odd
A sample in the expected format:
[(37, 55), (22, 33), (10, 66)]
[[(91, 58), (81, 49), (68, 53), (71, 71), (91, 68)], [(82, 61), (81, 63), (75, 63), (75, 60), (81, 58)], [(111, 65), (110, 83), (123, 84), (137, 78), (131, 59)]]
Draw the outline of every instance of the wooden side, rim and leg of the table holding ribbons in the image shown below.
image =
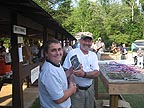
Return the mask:
[(144, 94), (144, 75), (136, 73), (139, 80), (128, 81), (125, 79), (110, 79), (107, 75), (108, 69), (100, 66), (100, 78), (110, 95), (110, 107), (118, 108), (118, 96), (120, 94)]

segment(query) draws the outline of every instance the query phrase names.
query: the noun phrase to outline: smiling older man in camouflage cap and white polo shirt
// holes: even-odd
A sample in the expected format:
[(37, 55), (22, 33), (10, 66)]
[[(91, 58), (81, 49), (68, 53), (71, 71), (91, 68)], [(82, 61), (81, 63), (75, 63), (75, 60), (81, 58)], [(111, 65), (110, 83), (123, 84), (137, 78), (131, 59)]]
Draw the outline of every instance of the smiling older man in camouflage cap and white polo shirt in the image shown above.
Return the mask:
[(71, 96), (72, 108), (94, 107), (93, 79), (99, 75), (98, 58), (95, 52), (90, 51), (93, 37), (81, 35), (80, 47), (71, 50), (65, 58), (63, 67), (69, 69), (72, 64), (70, 59), (77, 55), (80, 69), (74, 70), (72, 81), (77, 84), (78, 90)]

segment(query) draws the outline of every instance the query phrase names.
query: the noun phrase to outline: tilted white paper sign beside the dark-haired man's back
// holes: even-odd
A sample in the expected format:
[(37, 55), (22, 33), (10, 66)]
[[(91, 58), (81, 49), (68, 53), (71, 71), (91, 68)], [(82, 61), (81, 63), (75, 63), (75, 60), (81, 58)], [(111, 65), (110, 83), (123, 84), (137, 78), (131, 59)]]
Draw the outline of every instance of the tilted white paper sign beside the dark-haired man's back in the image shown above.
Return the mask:
[(31, 70), (31, 83), (33, 84), (39, 77), (40, 73), (40, 66), (37, 66), (36, 68)]

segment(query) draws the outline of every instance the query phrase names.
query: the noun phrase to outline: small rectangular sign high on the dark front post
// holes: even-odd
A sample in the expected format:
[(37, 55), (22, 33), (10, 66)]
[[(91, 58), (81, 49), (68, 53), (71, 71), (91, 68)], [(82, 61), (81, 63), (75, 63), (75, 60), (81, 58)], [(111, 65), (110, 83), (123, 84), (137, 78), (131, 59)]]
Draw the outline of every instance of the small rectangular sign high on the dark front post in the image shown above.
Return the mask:
[(26, 28), (14, 25), (13, 26), (13, 33), (26, 35)]

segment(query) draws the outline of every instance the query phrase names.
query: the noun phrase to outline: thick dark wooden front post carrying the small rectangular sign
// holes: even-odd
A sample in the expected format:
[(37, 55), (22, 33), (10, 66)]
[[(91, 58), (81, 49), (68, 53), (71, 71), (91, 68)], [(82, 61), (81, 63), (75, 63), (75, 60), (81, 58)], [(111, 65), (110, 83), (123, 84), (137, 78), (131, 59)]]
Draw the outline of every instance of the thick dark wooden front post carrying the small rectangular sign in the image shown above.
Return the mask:
[(18, 54), (18, 35), (13, 33), (13, 25), (17, 25), (17, 14), (11, 13), (11, 55), (12, 55), (12, 105), (13, 108), (23, 108), (23, 89)]

